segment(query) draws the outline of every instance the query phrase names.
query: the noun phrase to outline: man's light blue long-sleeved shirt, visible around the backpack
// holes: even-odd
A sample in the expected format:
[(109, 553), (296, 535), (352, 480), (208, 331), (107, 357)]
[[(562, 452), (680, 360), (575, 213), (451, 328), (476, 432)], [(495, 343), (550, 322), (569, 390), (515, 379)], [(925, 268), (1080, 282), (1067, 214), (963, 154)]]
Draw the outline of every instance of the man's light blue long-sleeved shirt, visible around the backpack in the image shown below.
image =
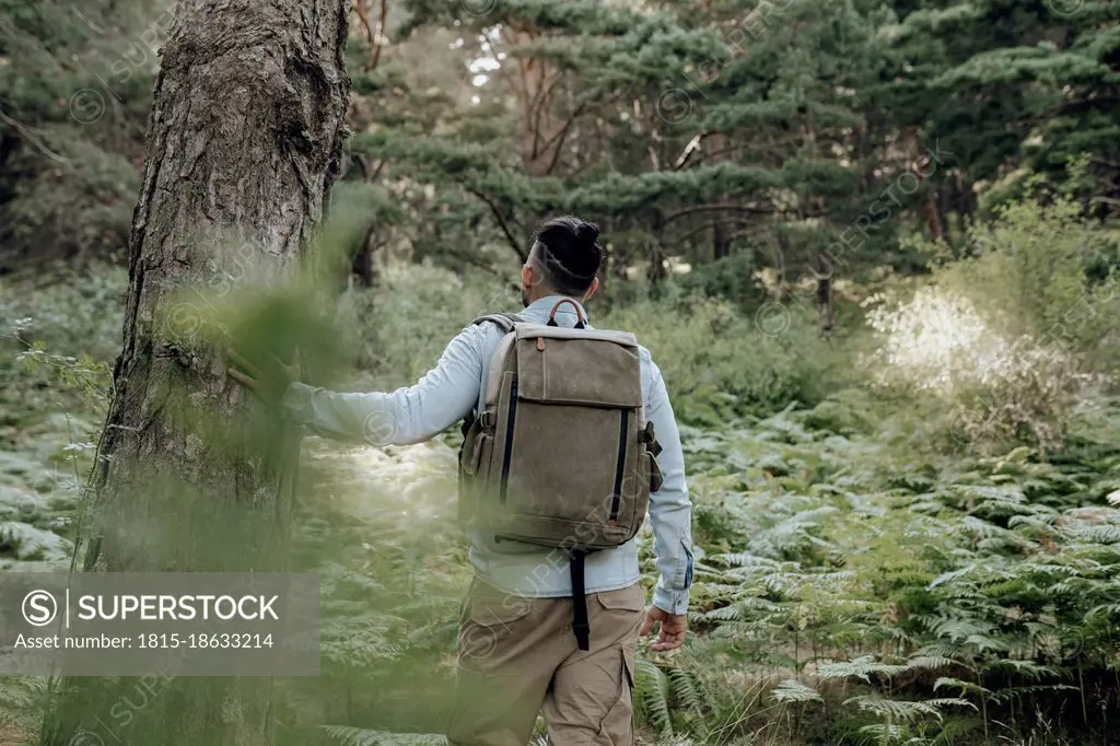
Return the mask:
[[(560, 299), (541, 298), (519, 316), (544, 324)], [(587, 318), (582, 306), (580, 313)], [(571, 305), (562, 306), (556, 320), (560, 326), (575, 326), (577, 317)], [(293, 383), (282, 407), (291, 419), (326, 438), (376, 446), (421, 442), (468, 417), (473, 409), (480, 411), (491, 356), (502, 336), (496, 324), (468, 326), (447, 345), (436, 367), (411, 386), (390, 393), (336, 393)], [(657, 465), (664, 482), (650, 495), (648, 517), (660, 572), (653, 603), (665, 612), (683, 614), (692, 585), (692, 504), (684, 483), (684, 455), (661, 371), (648, 349), (640, 347), (640, 353), (644, 416), (653, 422), (663, 449)], [(571, 596), (568, 558), (562, 550), (525, 544), (521, 553), (498, 553), (477, 526), (468, 526), (468, 535), (470, 562), (483, 580), (517, 596)], [(635, 540), (592, 552), (585, 560), (587, 593), (626, 588), (638, 577)]]

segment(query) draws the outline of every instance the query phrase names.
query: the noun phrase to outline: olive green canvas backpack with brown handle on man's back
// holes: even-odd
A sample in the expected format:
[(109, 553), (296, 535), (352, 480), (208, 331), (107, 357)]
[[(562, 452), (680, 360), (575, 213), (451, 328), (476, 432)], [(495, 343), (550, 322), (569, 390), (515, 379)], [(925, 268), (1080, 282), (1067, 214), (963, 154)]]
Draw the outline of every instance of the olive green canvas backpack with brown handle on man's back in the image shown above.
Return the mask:
[[(661, 487), (653, 423), (644, 422), (642, 366), (632, 334), (492, 321), (505, 336), (491, 358), (480, 413), (464, 423), (460, 517), (496, 551), (508, 542), (558, 548), (571, 560), (575, 631), (587, 650), (584, 558), (626, 543)], [(577, 315), (579, 314), (578, 306)], [(517, 550), (512, 550), (517, 551)]]

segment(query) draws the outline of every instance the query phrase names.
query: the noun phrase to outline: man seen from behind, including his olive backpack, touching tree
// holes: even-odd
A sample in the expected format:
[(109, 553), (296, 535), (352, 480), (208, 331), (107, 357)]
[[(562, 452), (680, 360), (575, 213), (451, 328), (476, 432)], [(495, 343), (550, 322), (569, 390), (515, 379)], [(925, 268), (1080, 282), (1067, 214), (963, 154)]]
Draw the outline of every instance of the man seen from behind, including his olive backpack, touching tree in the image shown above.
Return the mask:
[[(458, 746), (525, 746), (541, 711), (558, 746), (628, 746), (637, 635), (660, 624), (652, 650), (684, 641), (680, 436), (648, 351), (587, 324), (597, 236), (573, 217), (542, 224), (521, 270), (525, 308), (476, 319), (416, 385), (336, 393), (231, 370), (325, 437), (404, 445), (466, 420), (460, 514), (475, 577), (448, 727)], [(659, 575), (647, 610), (635, 542), (646, 513)]]

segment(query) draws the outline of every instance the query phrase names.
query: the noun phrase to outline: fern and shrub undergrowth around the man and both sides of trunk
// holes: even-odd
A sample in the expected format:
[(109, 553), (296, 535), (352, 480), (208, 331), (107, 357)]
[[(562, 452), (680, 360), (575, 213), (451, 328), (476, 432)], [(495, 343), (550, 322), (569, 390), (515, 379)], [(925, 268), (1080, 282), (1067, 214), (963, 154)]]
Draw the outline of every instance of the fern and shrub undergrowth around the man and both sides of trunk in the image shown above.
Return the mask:
[[(438, 279), (424, 271), (379, 296), (377, 313), (408, 319), (428, 308), (431, 298), (405, 297)], [(68, 562), (111, 393), (121, 279), (0, 298), (7, 569)], [(492, 299), (461, 293), (418, 347), (404, 342), (414, 319), (396, 343), (384, 342), (391, 328), (363, 337), (374, 370), (362, 385), (422, 372), (478, 299), (486, 310)], [(85, 324), (76, 333), (72, 314)], [(696, 314), (680, 324), (614, 309), (601, 321), (645, 319), (637, 332), (665, 361), (696, 505), (694, 634), (675, 654), (640, 651), (642, 743), (1109, 743), (1120, 691), (1120, 408), (1099, 398), (1071, 411), (1045, 458), (1015, 445), (940, 456), (912, 447), (921, 431), (897, 402), (860, 388), (825, 395), (820, 381), (836, 363), (823, 348), (799, 358), (800, 332), (766, 337), (769, 327), (719, 304)], [(766, 337), (781, 375), (756, 365), (728, 391), (737, 361), (754, 353), (706, 345), (719, 328)], [(384, 449), (308, 440), (293, 566), (324, 577), (323, 675), (278, 682), (278, 743), (441, 743), (432, 734), (450, 714), (469, 579), (456, 445), (454, 433)], [(34, 730), (38, 692), (36, 679), (6, 680), (0, 725)]]

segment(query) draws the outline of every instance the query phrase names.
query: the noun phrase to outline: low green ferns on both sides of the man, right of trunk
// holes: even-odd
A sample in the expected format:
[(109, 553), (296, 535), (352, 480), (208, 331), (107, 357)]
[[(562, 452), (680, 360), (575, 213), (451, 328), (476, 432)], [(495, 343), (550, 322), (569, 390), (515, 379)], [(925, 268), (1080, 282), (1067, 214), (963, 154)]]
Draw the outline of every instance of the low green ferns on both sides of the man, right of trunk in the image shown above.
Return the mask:
[[(1027, 448), (915, 459), (865, 435), (860, 402), (683, 429), (696, 635), (676, 654), (643, 647), (643, 743), (1105, 743), (1120, 446), (1084, 437), (1061, 463)], [(1120, 407), (1096, 417), (1114, 427)], [(361, 456), (382, 475), (352, 523), (366, 545), (326, 569), (348, 578), (328, 582), (327, 607), (346, 612), (328, 627), (345, 641), (328, 643), (326, 686), (345, 691), (321, 731), (332, 743), (441, 743), (391, 734), (436, 738), (448, 716), (467, 579), (461, 545), (445, 543), (454, 451), (388, 451)], [(416, 486), (418, 474), (430, 481)], [(640, 541), (648, 582), (648, 534)], [(345, 584), (347, 600), (334, 600)]]

